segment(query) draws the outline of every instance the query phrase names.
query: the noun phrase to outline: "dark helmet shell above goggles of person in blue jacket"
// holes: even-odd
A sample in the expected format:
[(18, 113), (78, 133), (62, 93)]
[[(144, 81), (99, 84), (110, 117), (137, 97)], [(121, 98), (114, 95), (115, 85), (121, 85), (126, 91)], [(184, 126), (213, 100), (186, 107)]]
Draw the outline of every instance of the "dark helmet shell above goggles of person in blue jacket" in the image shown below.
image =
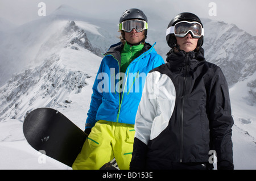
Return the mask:
[(145, 22), (147, 22), (147, 16), (144, 14), (142, 10), (139, 10), (139, 9), (129, 9), (123, 12), (119, 20), (119, 23), (122, 23), (123, 21), (129, 20), (129, 19), (142, 19)]

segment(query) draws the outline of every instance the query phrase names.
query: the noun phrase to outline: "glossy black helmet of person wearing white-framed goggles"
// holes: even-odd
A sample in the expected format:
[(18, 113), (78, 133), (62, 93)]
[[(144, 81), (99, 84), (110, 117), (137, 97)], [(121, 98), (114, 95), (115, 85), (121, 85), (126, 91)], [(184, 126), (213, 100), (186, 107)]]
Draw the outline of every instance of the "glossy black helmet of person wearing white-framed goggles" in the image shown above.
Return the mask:
[[(171, 22), (168, 24), (167, 29), (171, 26), (174, 26), (177, 22), (181, 22), (181, 21), (198, 22), (203, 27), (203, 24), (198, 16), (196, 16), (191, 12), (181, 12), (180, 14), (172, 18)], [(166, 35), (166, 41), (169, 47), (171, 47), (172, 49), (177, 46), (177, 40), (174, 34)], [(204, 36), (201, 36), (197, 42), (197, 47), (201, 47), (203, 43), (204, 43)]]

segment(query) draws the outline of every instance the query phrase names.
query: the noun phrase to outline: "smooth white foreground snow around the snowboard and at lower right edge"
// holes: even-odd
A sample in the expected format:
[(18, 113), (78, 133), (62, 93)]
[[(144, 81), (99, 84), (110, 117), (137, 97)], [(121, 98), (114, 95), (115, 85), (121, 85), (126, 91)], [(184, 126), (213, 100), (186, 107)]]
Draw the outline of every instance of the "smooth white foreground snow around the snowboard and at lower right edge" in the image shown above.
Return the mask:
[[(90, 85), (92, 84), (90, 83)], [(59, 110), (81, 129), (84, 129), (86, 113), (92, 93), (91, 88), (91, 86), (86, 86), (80, 94), (72, 95), (72, 106), (64, 110)], [(230, 93), (233, 92), (230, 91)], [(235, 169), (254, 170), (256, 169), (256, 140), (253, 136), (249, 135), (250, 133), (253, 134), (253, 132), (248, 133), (240, 127), (248, 126), (249, 128), (254, 128), (255, 123), (244, 125), (238, 118), (240, 116), (238, 110), (241, 107), (250, 108), (251, 106), (246, 106), (246, 104), (241, 105), (240, 102), (234, 101), (232, 105), (234, 105), (233, 115), (235, 120), (232, 137)], [(255, 115), (250, 113), (250, 110), (248, 112), (245, 110), (248, 109), (243, 109), (243, 115), (247, 115), (247, 117), (255, 120)], [(236, 112), (238, 113), (236, 114)], [(23, 123), (20, 120), (6, 120), (0, 124), (0, 169), (71, 169), (71, 167), (38, 153), (38, 151), (28, 145), (23, 136), (22, 125)]]

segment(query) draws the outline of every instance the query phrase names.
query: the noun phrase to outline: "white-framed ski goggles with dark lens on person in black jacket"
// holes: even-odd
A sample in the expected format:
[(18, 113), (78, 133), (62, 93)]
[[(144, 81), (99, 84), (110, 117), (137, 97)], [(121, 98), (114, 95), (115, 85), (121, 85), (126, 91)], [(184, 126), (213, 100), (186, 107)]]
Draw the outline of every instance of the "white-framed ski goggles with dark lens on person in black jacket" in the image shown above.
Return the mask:
[(174, 26), (169, 27), (166, 35), (174, 33), (177, 37), (185, 37), (188, 32), (191, 32), (194, 38), (204, 36), (204, 28), (200, 23), (187, 21), (178, 22)]

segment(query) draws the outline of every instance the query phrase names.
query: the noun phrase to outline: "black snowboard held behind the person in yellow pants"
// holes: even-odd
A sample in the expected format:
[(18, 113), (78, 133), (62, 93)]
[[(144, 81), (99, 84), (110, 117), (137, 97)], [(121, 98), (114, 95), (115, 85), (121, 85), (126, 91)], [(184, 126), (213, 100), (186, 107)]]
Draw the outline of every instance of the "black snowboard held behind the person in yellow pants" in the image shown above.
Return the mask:
[[(32, 148), (72, 167), (88, 136), (62, 113), (52, 108), (38, 108), (26, 116), (23, 133)], [(101, 170), (118, 169), (115, 160)]]

